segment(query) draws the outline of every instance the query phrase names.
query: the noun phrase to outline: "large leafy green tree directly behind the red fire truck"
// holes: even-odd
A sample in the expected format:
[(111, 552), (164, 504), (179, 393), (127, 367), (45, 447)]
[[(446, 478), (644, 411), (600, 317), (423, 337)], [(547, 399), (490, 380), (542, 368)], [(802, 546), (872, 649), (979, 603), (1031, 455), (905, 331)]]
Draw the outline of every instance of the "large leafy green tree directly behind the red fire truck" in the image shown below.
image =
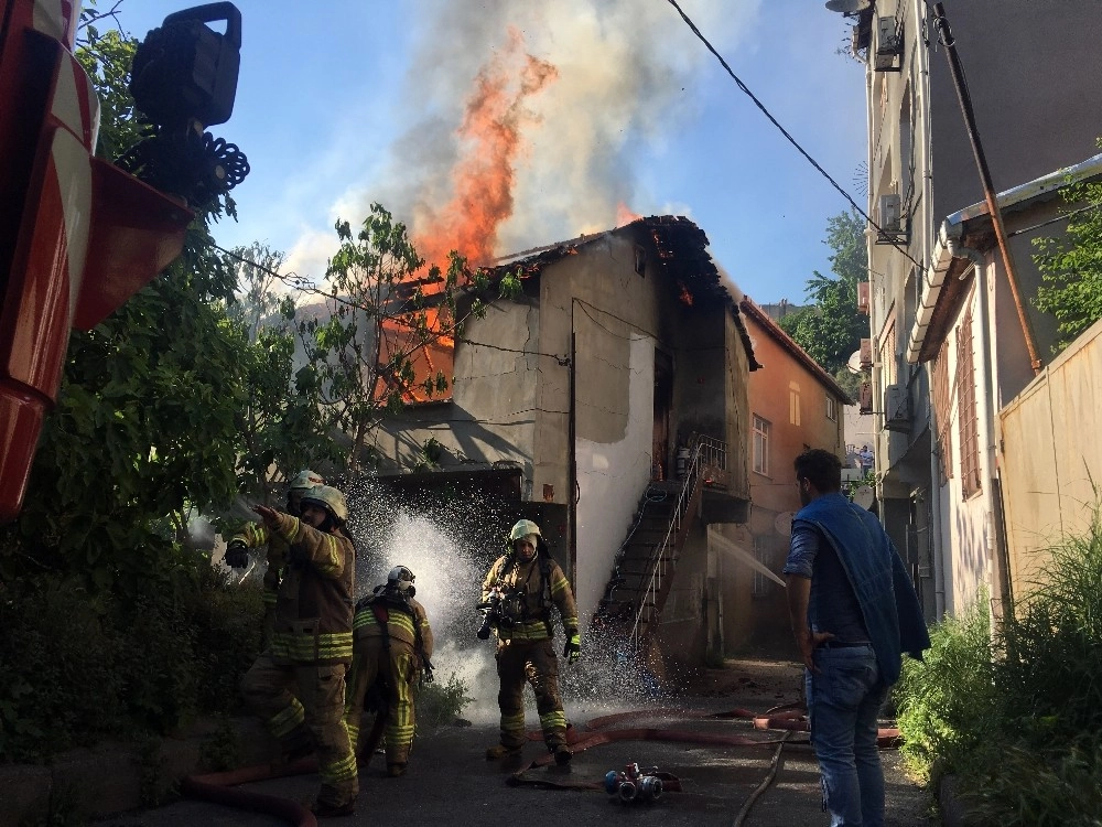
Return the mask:
[[(126, 92), (137, 43), (83, 32), (76, 56), (105, 105), (97, 152), (116, 158), (139, 133)], [(235, 273), (208, 226), (225, 197), (188, 228), (183, 254), (89, 332), (74, 332), (20, 519), (3, 535), (4, 574), (71, 572), (94, 592), (136, 592), (158, 576), (192, 578), (198, 559), (174, 539), (193, 506), (236, 492), (236, 411), (245, 398), (240, 342), (225, 308)]]

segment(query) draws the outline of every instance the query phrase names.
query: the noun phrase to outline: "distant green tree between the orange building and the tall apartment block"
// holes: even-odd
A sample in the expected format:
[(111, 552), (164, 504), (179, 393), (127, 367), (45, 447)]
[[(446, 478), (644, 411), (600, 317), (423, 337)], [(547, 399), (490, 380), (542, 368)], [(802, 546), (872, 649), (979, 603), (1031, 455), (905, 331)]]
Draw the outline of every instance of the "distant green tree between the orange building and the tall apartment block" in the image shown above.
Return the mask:
[(781, 329), (829, 374), (845, 367), (846, 359), (868, 336), (868, 320), (857, 312), (857, 282), (865, 280), (865, 225), (857, 213), (839, 213), (827, 221), (829, 257), (834, 276), (818, 270), (808, 279), (811, 305), (786, 315)]

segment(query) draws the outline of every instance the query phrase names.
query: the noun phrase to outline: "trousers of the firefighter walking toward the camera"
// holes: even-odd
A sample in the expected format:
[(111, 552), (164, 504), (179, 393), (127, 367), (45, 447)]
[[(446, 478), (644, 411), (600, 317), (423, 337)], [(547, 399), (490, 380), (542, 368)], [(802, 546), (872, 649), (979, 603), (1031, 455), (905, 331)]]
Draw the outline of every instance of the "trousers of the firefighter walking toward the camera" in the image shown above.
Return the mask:
[(525, 743), (525, 684), (532, 687), (540, 715), (543, 742), (554, 751), (566, 742), (566, 716), (559, 696), (559, 663), (550, 640), (501, 641), (497, 647), (500, 689), (501, 744), (519, 748)]

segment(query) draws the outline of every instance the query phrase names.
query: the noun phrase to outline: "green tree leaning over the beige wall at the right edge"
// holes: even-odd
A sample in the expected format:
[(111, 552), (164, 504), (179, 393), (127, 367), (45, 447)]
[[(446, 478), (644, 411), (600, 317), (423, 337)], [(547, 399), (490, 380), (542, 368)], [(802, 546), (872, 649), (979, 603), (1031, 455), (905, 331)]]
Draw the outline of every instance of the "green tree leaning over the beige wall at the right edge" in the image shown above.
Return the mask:
[(1034, 304), (1059, 322), (1054, 353), (1102, 319), (1102, 184), (1071, 184), (1062, 195), (1069, 205), (1087, 207), (1071, 213), (1066, 236), (1034, 239), (1044, 281)]

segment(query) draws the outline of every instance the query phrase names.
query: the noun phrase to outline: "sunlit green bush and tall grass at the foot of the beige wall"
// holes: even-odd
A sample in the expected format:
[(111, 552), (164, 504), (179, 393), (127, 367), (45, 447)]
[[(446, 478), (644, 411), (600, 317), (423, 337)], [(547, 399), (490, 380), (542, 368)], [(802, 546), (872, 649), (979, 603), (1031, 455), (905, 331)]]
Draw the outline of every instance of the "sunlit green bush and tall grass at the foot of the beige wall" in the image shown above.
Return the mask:
[(896, 688), (904, 752), (959, 776), (977, 824), (1102, 824), (1102, 520), (1045, 552), (994, 634), (981, 601), (931, 634)]

